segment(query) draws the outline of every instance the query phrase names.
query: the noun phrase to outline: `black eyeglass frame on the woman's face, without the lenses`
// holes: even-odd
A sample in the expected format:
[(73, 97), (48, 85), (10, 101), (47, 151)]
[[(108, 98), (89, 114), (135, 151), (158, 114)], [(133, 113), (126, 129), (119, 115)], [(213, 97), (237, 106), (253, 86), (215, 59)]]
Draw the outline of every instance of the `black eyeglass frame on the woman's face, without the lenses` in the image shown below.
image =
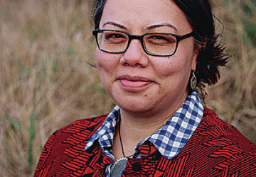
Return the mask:
[[(102, 50), (102, 48), (100, 48), (100, 45), (99, 45), (99, 42), (98, 42), (98, 39), (97, 39), (97, 34), (102, 32), (102, 31), (113, 31), (113, 32), (119, 32), (119, 33), (124, 33), (124, 34), (128, 35), (128, 43), (127, 43), (126, 49), (121, 51), (121, 52), (110, 52), (110, 51), (107, 51), (107, 50)], [(157, 55), (157, 54), (152, 54), (151, 52), (146, 50), (143, 38), (144, 38), (145, 35), (154, 35), (154, 34), (174, 36), (176, 38), (176, 47), (175, 47), (174, 52), (172, 54), (169, 54), (169, 55)], [(132, 40), (137, 39), (137, 40), (140, 40), (140, 42), (142, 43), (143, 50), (144, 50), (144, 52), (146, 52), (147, 55), (156, 56), (156, 57), (170, 57), (170, 56), (172, 56), (176, 53), (176, 50), (178, 49), (178, 42), (180, 42), (181, 40), (184, 40), (186, 38), (193, 37), (194, 32), (192, 31), (191, 33), (188, 33), (186, 35), (176, 35), (176, 34), (172, 34), (172, 33), (144, 33), (143, 35), (131, 35), (131, 34), (125, 32), (125, 31), (122, 31), (122, 30), (97, 29), (97, 30), (92, 30), (92, 35), (95, 36), (95, 39), (96, 39), (96, 42), (97, 42), (97, 47), (102, 52), (107, 52), (107, 53), (112, 53), (112, 54), (122, 54), (122, 53), (124, 53), (128, 50), (129, 45), (132, 42)]]

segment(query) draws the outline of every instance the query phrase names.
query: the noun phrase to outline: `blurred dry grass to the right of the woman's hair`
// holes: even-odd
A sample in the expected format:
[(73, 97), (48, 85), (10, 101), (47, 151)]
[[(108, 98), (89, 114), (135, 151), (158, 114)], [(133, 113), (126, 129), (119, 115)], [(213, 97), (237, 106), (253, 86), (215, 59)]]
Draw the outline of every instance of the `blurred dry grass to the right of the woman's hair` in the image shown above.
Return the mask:
[[(232, 55), (220, 82), (208, 89), (208, 106), (256, 142), (256, 4), (215, 1), (215, 14), (225, 25), (223, 41)], [(223, 30), (220, 23), (216, 23)], [(221, 31), (220, 31), (221, 32)]]

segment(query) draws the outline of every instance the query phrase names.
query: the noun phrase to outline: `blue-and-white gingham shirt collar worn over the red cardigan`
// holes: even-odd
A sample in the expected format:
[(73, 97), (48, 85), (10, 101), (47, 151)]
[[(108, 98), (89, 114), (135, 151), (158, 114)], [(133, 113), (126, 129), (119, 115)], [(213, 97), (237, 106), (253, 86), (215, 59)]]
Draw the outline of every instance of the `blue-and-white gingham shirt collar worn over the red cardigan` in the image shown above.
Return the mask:
[[(188, 139), (198, 127), (203, 117), (203, 103), (196, 91), (186, 98), (176, 113), (159, 130), (154, 132), (135, 147), (134, 158), (139, 158), (137, 147), (146, 141), (151, 142), (159, 152), (167, 159), (173, 159), (185, 146)], [(114, 131), (120, 118), (120, 108), (117, 105), (107, 116), (102, 126), (90, 137), (85, 146), (85, 151), (89, 149), (95, 141), (98, 141), (105, 155), (110, 156), (114, 161), (114, 156), (110, 150), (113, 144)], [(112, 165), (112, 164), (111, 164)], [(111, 166), (110, 165), (110, 166)], [(110, 173), (110, 166), (106, 169)]]

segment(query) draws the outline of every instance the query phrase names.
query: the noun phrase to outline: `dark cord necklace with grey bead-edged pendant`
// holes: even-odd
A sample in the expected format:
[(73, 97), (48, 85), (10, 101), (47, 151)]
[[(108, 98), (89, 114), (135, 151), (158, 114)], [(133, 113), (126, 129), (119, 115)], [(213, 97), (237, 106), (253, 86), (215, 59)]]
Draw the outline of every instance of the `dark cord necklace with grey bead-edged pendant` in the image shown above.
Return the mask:
[(122, 149), (122, 155), (124, 157), (118, 159), (116, 162), (114, 162), (114, 164), (111, 166), (111, 169), (110, 169), (110, 176), (111, 177), (120, 177), (122, 175), (122, 172), (124, 171), (125, 169), (125, 166), (127, 164), (127, 160), (131, 157), (131, 156), (134, 156), (134, 154), (130, 155), (130, 156), (126, 156), (124, 155), (124, 147), (122, 145), (122, 138), (121, 138), (121, 134), (120, 134), (120, 124), (121, 124), (121, 120), (119, 122), (119, 125), (118, 125), (118, 132), (119, 132), (119, 140), (120, 140), (120, 144), (121, 144), (121, 149)]

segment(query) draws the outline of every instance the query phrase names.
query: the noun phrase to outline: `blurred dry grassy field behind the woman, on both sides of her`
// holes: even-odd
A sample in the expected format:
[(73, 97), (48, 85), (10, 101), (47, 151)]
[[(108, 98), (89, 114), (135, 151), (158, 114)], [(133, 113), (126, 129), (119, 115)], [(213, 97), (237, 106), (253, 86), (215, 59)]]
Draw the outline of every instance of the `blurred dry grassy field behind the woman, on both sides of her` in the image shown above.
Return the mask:
[[(69, 122), (114, 103), (94, 64), (88, 0), (0, 0), (0, 176), (32, 176), (43, 144)], [(256, 142), (254, 0), (213, 0), (232, 55), (206, 105)]]

